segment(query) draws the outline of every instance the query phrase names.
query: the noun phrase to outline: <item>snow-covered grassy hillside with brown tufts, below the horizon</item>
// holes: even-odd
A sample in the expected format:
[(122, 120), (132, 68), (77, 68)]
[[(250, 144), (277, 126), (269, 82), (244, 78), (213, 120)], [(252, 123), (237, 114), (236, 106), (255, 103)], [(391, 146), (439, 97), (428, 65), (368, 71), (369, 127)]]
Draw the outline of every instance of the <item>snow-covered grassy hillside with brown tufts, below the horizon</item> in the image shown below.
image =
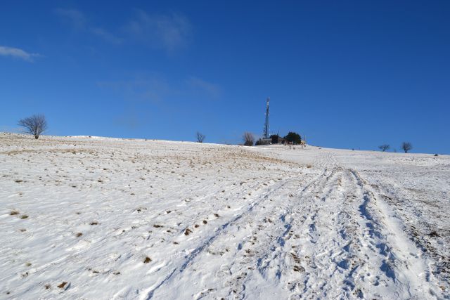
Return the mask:
[(0, 299), (449, 299), (450, 157), (0, 133)]

